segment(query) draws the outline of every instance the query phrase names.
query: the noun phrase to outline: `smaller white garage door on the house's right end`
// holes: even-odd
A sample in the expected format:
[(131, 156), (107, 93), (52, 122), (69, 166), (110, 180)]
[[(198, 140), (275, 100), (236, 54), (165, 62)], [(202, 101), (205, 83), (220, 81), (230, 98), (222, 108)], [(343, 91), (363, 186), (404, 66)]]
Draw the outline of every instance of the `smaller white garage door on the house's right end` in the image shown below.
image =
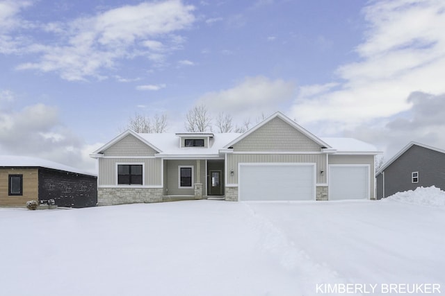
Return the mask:
[(369, 199), (369, 166), (329, 166), (329, 200), (364, 198)]

